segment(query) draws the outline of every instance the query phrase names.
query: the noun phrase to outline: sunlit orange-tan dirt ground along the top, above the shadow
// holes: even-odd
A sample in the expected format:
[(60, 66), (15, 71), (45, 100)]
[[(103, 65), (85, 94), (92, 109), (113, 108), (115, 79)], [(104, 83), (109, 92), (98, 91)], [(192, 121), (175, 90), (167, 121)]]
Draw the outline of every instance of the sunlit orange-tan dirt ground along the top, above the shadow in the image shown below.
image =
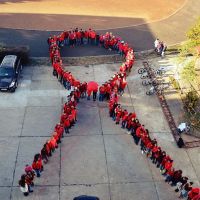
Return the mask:
[(0, 13), (68, 14), (109, 17), (139, 17), (158, 20), (173, 14), (187, 0), (1, 0)]

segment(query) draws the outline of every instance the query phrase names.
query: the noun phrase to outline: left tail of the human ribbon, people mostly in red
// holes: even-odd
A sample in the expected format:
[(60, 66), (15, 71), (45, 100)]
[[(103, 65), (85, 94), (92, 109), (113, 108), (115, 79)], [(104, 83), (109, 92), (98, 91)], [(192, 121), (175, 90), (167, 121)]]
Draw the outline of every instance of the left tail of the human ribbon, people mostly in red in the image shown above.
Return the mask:
[(72, 91), (68, 98), (68, 102), (63, 106), (60, 122), (56, 124), (51, 138), (45, 142), (40, 153), (35, 154), (32, 164), (27, 164), (25, 166), (24, 174), (21, 175), (18, 182), (24, 196), (28, 196), (29, 193), (33, 192), (35, 176), (38, 178), (41, 176), (44, 170), (44, 164), (48, 163), (49, 158), (58, 148), (64, 132), (69, 134), (70, 128), (74, 126), (77, 121), (76, 105), (79, 97)]

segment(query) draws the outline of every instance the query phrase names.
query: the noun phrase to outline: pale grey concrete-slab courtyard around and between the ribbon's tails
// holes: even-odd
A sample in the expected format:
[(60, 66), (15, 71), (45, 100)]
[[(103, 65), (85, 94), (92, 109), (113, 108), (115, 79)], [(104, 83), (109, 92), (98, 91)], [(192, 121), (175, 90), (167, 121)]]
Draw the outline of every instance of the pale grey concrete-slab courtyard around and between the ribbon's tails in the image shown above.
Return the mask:
[[(150, 134), (196, 185), (200, 181), (200, 148), (178, 149), (155, 96), (145, 95), (137, 61), (128, 77), (121, 104), (134, 110)], [(108, 80), (119, 64), (68, 67), (81, 81)], [(101, 200), (176, 200), (158, 169), (141, 154), (132, 137), (108, 117), (106, 103), (81, 100), (78, 122), (35, 181), (34, 193), (24, 198), (18, 179), (25, 164), (50, 137), (59, 120), (67, 91), (52, 76), (50, 66), (27, 66), (14, 94), (0, 94), (0, 199), (72, 200), (83, 194)]]

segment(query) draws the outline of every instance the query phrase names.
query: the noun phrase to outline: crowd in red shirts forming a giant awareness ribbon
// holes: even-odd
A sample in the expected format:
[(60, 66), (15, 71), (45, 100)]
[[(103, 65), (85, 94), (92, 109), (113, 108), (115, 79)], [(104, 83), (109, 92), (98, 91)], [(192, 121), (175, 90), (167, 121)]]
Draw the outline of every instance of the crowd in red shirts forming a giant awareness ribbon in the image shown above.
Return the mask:
[[(41, 176), (43, 164), (48, 163), (49, 158), (55, 149), (58, 148), (64, 132), (69, 134), (70, 128), (75, 125), (77, 120), (76, 107), (79, 100), (85, 97), (90, 100), (92, 94), (95, 101), (98, 93), (99, 101), (108, 102), (110, 117), (116, 124), (120, 124), (122, 129), (127, 129), (128, 133), (133, 136), (135, 144), (140, 145), (142, 154), (151, 159), (152, 163), (160, 170), (165, 177), (165, 182), (176, 187), (175, 192), (179, 192), (179, 198), (200, 200), (200, 188), (194, 187), (193, 182), (183, 175), (181, 169), (174, 168), (173, 159), (159, 146), (155, 138), (151, 138), (148, 129), (137, 119), (136, 113), (128, 112), (119, 103), (119, 96), (123, 94), (127, 85), (126, 77), (130, 73), (135, 61), (133, 49), (112, 33), (107, 32), (98, 35), (98, 37), (97, 35), (91, 29), (87, 31), (74, 29), (48, 38), (53, 75), (58, 78), (58, 81), (67, 90), (70, 90), (70, 95), (68, 96), (68, 101), (63, 106), (60, 122), (56, 124), (51, 138), (46, 141), (40, 153), (34, 156), (32, 164), (25, 166), (24, 174), (19, 180), (21, 191), (25, 196), (33, 192), (35, 176)], [(101, 85), (98, 91), (96, 89), (93, 91), (88, 90), (86, 82), (81, 83), (71, 72), (65, 70), (60, 56), (60, 48), (62, 46), (86, 44), (97, 44), (106, 49), (116, 50), (124, 59), (119, 71), (110, 80)]]

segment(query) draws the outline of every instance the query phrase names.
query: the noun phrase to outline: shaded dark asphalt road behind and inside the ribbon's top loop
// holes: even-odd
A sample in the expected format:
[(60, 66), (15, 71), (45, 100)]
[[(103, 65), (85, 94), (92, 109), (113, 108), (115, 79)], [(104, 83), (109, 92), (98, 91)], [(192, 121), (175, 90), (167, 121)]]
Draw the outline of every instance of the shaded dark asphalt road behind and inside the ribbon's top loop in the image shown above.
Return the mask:
[[(142, 51), (152, 48), (154, 37), (150, 32), (138, 30), (136, 28), (114, 29), (111, 30), (115, 35), (119, 35), (123, 40), (127, 41), (135, 51)], [(30, 47), (30, 55), (32, 57), (47, 57), (48, 45), (47, 38), (50, 35), (59, 34), (57, 31), (36, 31), (36, 30), (15, 30), (0, 29), (0, 41), (5, 45), (27, 45)], [(105, 33), (105, 31), (99, 31)], [(103, 48), (89, 47), (71, 48), (70, 51), (63, 51), (63, 56), (95, 56), (112, 54)]]

